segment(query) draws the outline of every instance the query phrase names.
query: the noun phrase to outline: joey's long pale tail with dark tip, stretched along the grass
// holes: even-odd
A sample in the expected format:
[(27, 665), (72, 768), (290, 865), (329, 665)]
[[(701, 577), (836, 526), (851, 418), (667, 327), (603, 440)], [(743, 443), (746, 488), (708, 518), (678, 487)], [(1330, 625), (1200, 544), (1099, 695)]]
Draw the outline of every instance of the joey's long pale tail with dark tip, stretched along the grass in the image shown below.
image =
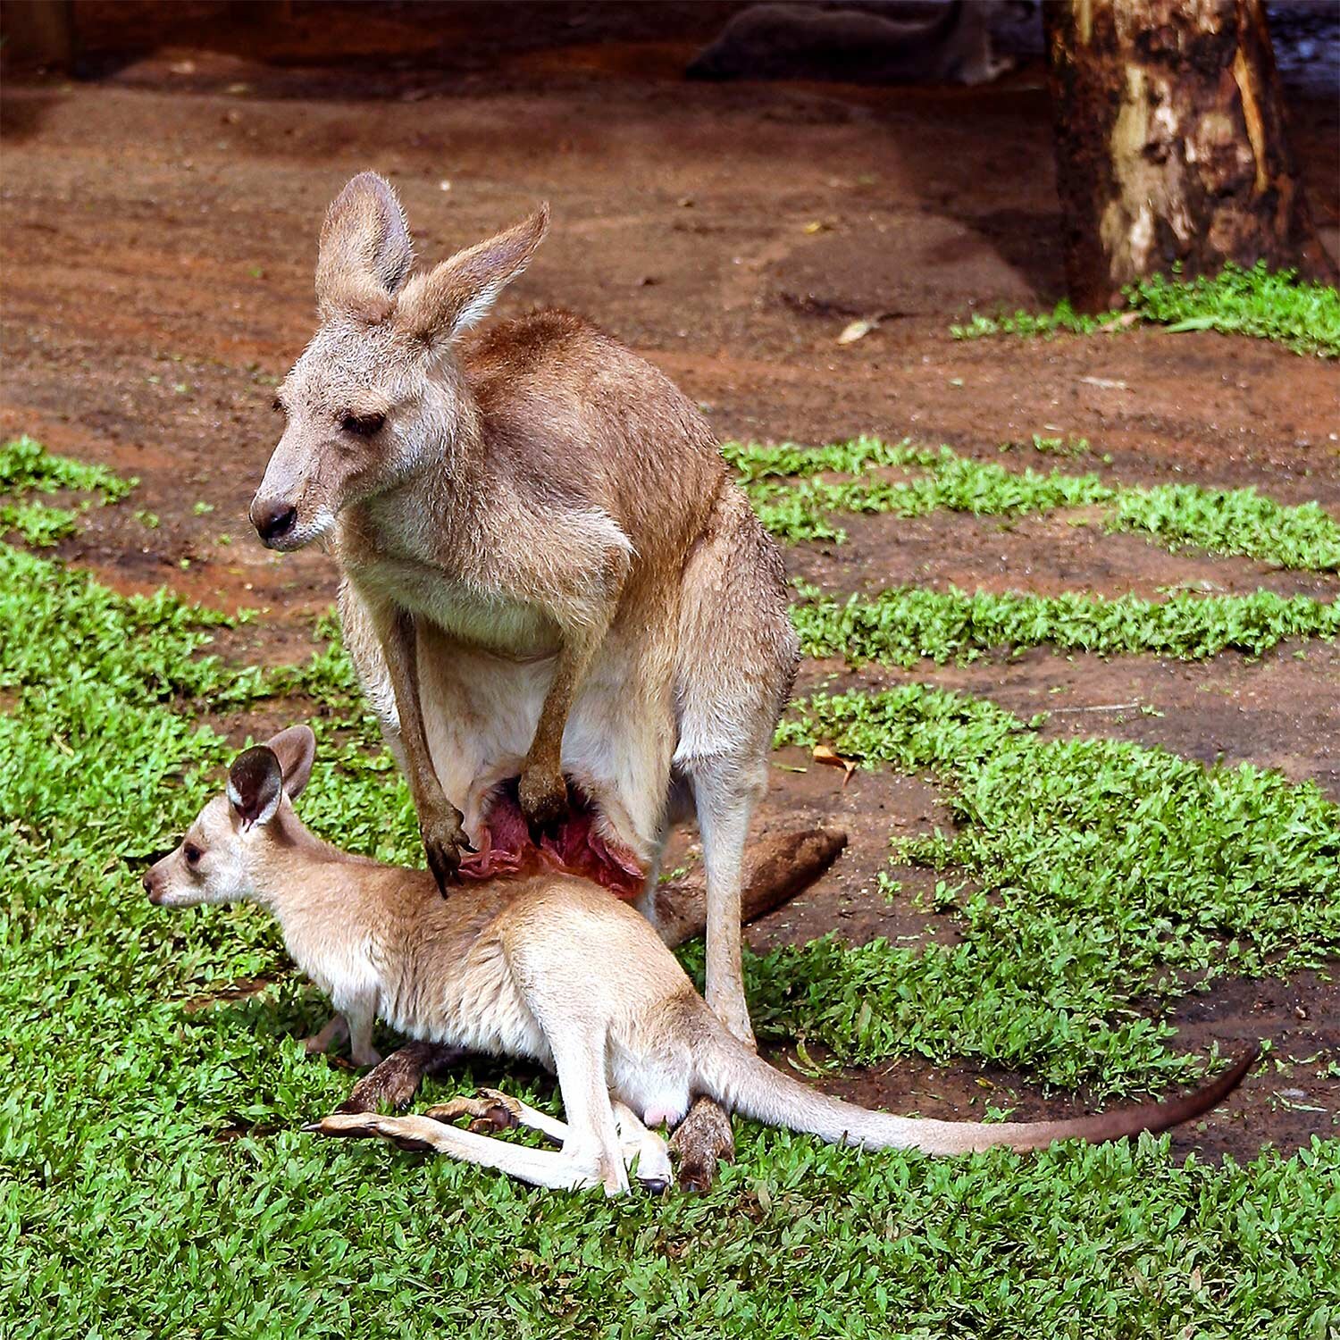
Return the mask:
[(718, 1026), (699, 1051), (698, 1088), (742, 1116), (817, 1135), (831, 1144), (856, 1144), (866, 1150), (917, 1148), (926, 1154), (969, 1154), (996, 1147), (1040, 1150), (1053, 1140), (1118, 1140), (1189, 1122), (1217, 1107), (1238, 1087), (1258, 1051), (1250, 1047), (1218, 1079), (1166, 1103), (1143, 1103), (1061, 1122), (935, 1122), (872, 1112), (820, 1093), (754, 1056)]

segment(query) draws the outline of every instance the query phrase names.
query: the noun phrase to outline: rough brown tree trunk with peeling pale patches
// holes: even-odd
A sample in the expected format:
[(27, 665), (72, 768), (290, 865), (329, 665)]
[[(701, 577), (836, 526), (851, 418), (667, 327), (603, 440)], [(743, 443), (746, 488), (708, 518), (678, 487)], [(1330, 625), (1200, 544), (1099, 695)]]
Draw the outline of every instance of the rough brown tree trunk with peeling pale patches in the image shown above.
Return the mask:
[(1047, 0), (1072, 300), (1226, 260), (1333, 280), (1289, 150), (1262, 0)]

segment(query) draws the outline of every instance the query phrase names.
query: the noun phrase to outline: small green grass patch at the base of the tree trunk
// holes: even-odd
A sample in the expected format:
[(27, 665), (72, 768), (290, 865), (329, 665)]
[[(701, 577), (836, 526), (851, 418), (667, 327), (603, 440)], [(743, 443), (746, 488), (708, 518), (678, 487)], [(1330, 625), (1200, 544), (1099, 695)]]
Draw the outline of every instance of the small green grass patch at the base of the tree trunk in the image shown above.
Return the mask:
[(1170, 332), (1214, 330), (1223, 335), (1250, 335), (1298, 354), (1340, 358), (1340, 293), (1331, 284), (1300, 281), (1294, 271), (1272, 273), (1264, 263), (1250, 269), (1229, 263), (1215, 276), (1202, 275), (1182, 283), (1156, 275), (1122, 292), (1124, 312), (1085, 316), (1061, 300), (1051, 312), (973, 316), (966, 326), (951, 326), (950, 334), (955, 339), (1092, 335), (1144, 323), (1163, 326)]

